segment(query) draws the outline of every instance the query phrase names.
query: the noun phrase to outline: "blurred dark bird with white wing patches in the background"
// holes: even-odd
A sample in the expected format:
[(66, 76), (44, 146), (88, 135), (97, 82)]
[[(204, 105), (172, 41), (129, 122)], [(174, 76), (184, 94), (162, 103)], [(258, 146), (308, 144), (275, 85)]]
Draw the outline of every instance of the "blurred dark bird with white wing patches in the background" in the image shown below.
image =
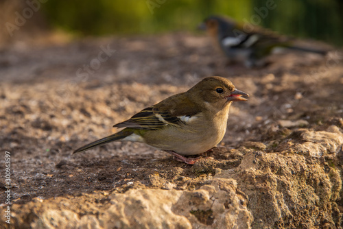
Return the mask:
[(326, 55), (328, 50), (316, 50), (294, 45), (295, 39), (268, 29), (237, 23), (226, 16), (209, 16), (199, 29), (206, 30), (231, 62), (244, 62), (246, 67), (263, 67), (265, 57), (276, 47)]

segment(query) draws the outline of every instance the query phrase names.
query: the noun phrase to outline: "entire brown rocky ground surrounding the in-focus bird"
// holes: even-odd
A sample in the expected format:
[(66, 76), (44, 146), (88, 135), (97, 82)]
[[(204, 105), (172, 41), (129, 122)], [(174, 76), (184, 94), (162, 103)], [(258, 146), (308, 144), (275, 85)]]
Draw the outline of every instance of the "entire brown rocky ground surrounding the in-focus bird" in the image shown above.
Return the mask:
[[(104, 51), (106, 50), (106, 51)], [(10, 228), (342, 228), (343, 54), (228, 65), (204, 36), (111, 37), (0, 51), (1, 215)], [(186, 165), (112, 125), (203, 77), (250, 94), (220, 147)]]

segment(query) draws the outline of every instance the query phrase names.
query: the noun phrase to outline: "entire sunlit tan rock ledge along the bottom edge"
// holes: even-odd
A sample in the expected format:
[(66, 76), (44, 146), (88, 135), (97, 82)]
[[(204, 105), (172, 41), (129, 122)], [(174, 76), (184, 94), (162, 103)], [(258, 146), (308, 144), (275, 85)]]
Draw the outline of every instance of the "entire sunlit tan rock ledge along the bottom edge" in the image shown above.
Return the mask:
[[(238, 164), (237, 160), (208, 159), (193, 165), (193, 173), (200, 177), (205, 174), (206, 178), (193, 191), (176, 190), (176, 184), (155, 172), (147, 176), (148, 183), (162, 189), (147, 189), (140, 182), (128, 182), (124, 193), (36, 198), (24, 205), (14, 204), (12, 225), (17, 228), (340, 228), (342, 144), (343, 134), (337, 126), (329, 126), (327, 131), (296, 130), (277, 147), (279, 152), (249, 151), (246, 147), (264, 148), (264, 145), (246, 142)], [(182, 169), (174, 169), (171, 176), (181, 173)]]

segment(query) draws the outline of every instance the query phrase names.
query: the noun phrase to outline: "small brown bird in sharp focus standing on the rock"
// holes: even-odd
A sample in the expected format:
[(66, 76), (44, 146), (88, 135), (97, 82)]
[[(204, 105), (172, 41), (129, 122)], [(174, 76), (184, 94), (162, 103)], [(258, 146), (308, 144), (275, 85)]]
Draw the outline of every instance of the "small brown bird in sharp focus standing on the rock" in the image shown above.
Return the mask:
[(182, 155), (200, 154), (220, 143), (226, 132), (230, 105), (233, 101), (246, 101), (243, 96), (249, 95), (237, 90), (224, 77), (206, 77), (189, 91), (168, 97), (113, 125), (125, 129), (80, 147), (73, 154), (111, 141), (134, 141), (193, 164), (198, 158)]

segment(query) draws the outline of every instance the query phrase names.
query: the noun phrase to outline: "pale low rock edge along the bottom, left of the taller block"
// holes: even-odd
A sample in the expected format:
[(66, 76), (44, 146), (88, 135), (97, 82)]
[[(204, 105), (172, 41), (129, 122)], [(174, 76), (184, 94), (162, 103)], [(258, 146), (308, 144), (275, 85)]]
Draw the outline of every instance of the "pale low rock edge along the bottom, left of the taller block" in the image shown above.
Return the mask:
[(213, 179), (196, 191), (131, 189), (110, 194), (102, 200), (98, 197), (99, 194), (70, 199), (58, 197), (15, 206), (15, 225), (31, 228), (250, 228), (252, 223), (246, 195), (237, 189), (233, 179)]

